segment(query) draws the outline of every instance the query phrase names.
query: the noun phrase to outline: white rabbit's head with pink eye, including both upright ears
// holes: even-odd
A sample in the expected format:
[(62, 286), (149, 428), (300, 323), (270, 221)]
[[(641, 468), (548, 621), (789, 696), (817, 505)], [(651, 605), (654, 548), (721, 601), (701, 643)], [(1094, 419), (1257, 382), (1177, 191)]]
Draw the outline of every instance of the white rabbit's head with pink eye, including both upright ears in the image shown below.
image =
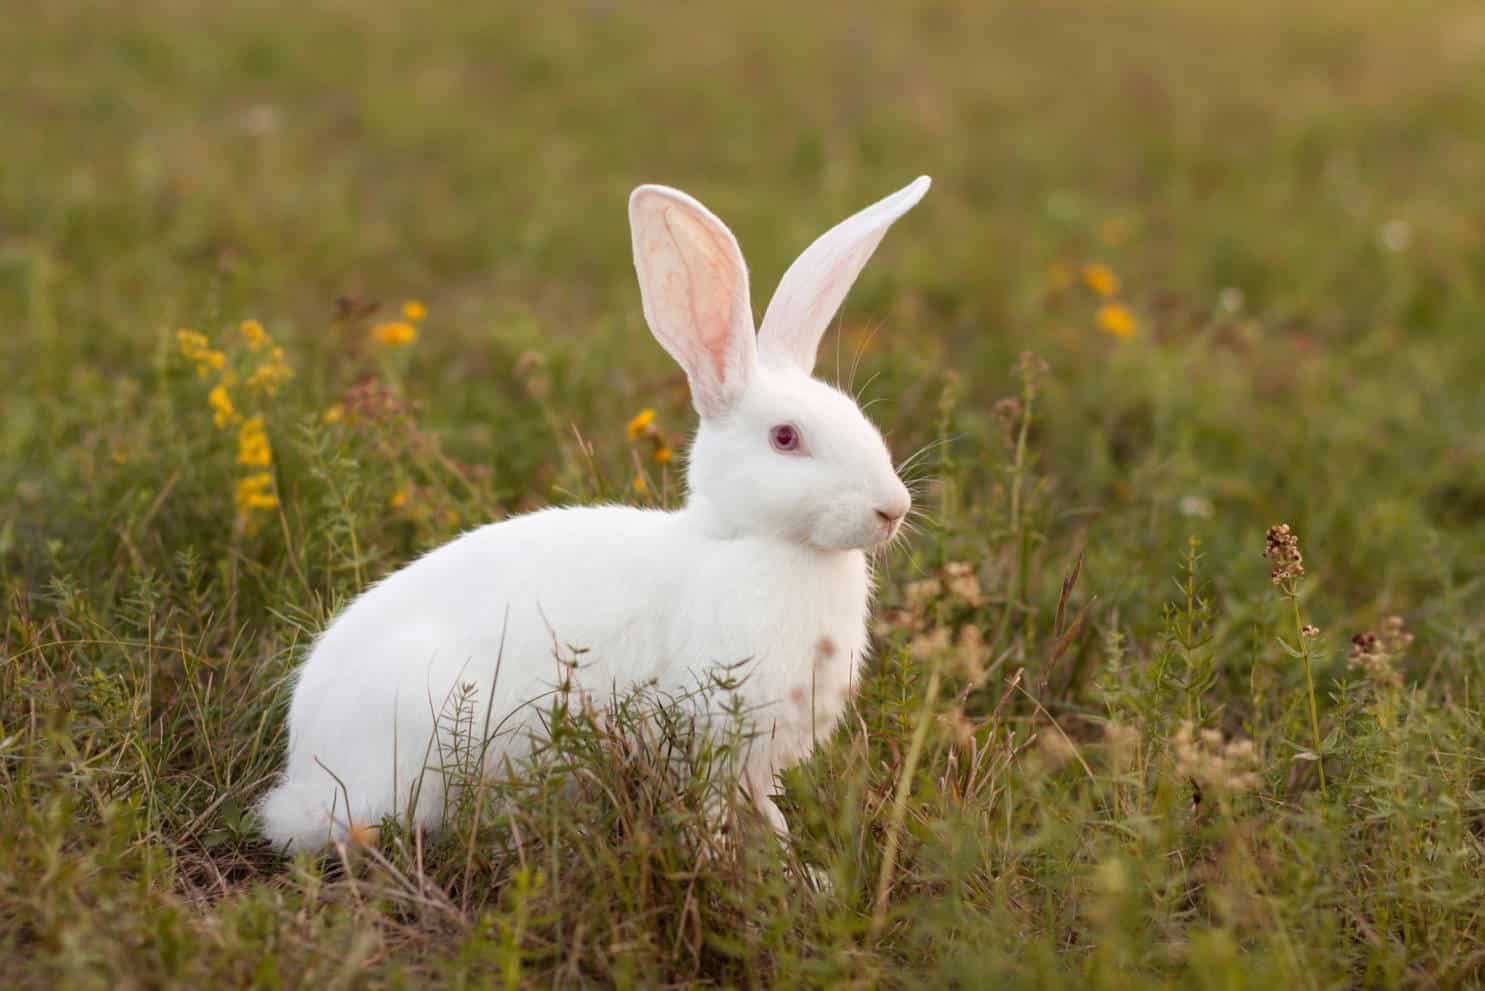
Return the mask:
[(688, 508), (710, 530), (821, 550), (897, 535), (912, 501), (881, 432), (811, 370), (882, 235), (927, 192), (925, 175), (821, 235), (784, 273), (757, 331), (732, 232), (679, 190), (630, 196), (644, 319), (685, 368), (701, 415)]

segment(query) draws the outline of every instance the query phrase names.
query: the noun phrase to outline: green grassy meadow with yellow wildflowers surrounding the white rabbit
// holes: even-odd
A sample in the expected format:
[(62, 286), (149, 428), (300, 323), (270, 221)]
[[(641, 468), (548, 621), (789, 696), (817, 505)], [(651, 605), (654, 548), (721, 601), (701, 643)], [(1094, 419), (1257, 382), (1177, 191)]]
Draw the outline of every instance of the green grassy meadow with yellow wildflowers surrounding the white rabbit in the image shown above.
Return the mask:
[[(1479, 985), (1476, 7), (12, 18), (0, 985)], [(711, 845), (738, 728), (640, 695), (438, 836), (275, 856), (336, 608), (477, 522), (680, 498), (628, 189), (726, 217), (760, 308), (919, 172), (821, 367), (928, 519), (787, 848)]]

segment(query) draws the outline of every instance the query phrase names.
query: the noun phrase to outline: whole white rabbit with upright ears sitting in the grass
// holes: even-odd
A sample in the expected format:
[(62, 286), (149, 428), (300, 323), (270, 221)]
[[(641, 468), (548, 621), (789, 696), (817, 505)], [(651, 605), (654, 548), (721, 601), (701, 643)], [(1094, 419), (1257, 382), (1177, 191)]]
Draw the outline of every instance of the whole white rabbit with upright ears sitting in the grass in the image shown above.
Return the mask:
[(532, 513), (368, 588), (298, 672), (288, 762), (260, 807), (267, 838), (319, 848), (408, 810), (437, 828), (450, 697), (472, 686), (475, 722), (489, 710), (502, 728), (487, 762), (518, 758), (564, 676), (557, 654), (573, 649), (572, 678), (600, 706), (644, 683), (692, 689), (698, 673), (745, 663), (740, 691), (759, 735), (742, 784), (786, 832), (768, 798), (774, 774), (843, 712), (867, 651), (864, 551), (890, 541), (910, 507), (876, 428), (811, 377), (815, 349), (888, 226), (928, 184), (918, 178), (809, 245), (756, 333), (726, 226), (682, 192), (636, 189), (644, 318), (701, 415), (685, 508)]

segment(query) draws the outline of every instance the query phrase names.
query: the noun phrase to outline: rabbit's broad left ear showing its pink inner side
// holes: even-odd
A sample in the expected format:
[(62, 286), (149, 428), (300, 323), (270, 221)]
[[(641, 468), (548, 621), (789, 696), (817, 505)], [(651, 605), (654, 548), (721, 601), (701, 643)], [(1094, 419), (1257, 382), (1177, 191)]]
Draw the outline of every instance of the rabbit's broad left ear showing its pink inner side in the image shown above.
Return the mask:
[(665, 186), (630, 195), (630, 229), (650, 333), (686, 370), (696, 412), (726, 413), (757, 361), (737, 239), (711, 211)]

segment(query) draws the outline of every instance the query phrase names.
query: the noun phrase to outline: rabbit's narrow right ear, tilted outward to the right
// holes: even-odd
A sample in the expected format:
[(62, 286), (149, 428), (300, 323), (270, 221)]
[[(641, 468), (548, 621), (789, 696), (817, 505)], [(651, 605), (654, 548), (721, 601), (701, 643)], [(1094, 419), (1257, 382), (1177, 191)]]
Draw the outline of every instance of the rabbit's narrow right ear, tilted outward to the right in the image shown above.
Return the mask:
[(766, 361), (792, 361), (806, 374), (815, 367), (820, 339), (855, 276), (892, 221), (924, 198), (930, 181), (927, 175), (919, 175), (887, 199), (842, 220), (794, 259), (757, 331), (759, 352)]

